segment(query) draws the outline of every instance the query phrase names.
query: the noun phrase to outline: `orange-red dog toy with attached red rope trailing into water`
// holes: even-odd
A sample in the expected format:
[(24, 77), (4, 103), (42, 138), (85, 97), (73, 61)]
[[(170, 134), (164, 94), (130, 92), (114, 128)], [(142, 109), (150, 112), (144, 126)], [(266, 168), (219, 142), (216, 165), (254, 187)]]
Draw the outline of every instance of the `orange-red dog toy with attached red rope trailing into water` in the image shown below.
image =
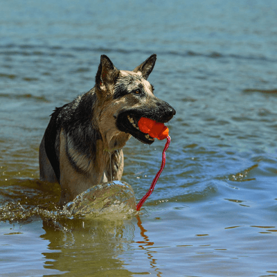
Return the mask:
[(171, 141), (170, 136), (168, 135), (168, 132), (169, 132), (168, 127), (163, 125), (163, 123), (158, 123), (152, 119), (142, 117), (139, 120), (139, 129), (141, 130), (141, 132), (152, 136), (152, 138), (157, 138), (159, 140), (167, 139), (167, 141), (166, 141), (166, 145), (163, 149), (161, 168), (157, 172), (157, 175), (154, 177), (154, 180), (152, 181), (152, 184), (150, 186), (150, 189), (148, 190), (148, 193), (146, 193), (143, 196), (143, 198), (141, 198), (141, 201), (139, 202), (139, 204), (137, 204), (136, 211), (139, 211), (141, 209), (141, 206), (143, 206), (145, 200), (148, 199), (148, 197), (150, 197), (151, 193), (153, 192), (154, 187), (161, 175), (161, 172), (163, 171), (163, 168), (166, 166), (166, 150), (168, 150), (168, 146)]

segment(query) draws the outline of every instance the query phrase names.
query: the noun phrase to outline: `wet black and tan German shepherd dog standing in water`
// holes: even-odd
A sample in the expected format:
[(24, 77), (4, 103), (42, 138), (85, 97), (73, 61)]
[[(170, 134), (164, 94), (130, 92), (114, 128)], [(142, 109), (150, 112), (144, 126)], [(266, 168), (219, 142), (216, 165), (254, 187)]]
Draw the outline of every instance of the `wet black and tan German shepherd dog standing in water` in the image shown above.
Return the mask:
[(60, 184), (61, 206), (92, 186), (121, 179), (128, 139), (154, 142), (139, 130), (142, 116), (166, 123), (175, 115), (147, 80), (156, 59), (153, 54), (123, 71), (101, 55), (95, 87), (53, 111), (39, 146), (39, 173), (42, 181)]

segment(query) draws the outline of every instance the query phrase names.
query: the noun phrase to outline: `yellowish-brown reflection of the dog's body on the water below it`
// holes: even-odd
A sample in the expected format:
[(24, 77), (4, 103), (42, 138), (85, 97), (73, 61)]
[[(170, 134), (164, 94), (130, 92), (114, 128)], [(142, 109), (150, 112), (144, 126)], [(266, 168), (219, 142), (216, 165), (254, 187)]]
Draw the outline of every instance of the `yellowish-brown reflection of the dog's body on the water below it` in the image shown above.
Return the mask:
[(49, 251), (43, 253), (45, 268), (90, 276), (101, 273), (132, 276), (124, 267), (120, 254), (134, 240), (134, 225), (130, 220), (44, 220)]

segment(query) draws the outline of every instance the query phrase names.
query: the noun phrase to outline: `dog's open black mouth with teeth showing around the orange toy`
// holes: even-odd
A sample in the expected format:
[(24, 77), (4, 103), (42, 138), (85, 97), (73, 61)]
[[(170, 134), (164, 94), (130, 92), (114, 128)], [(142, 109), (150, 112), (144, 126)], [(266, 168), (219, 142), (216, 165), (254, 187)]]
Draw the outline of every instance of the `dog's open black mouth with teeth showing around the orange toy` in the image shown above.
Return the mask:
[(135, 115), (124, 112), (118, 115), (117, 127), (121, 132), (132, 134), (135, 139), (138, 139), (142, 143), (152, 144), (154, 138), (149, 134), (141, 132), (139, 129), (139, 120), (143, 115)]

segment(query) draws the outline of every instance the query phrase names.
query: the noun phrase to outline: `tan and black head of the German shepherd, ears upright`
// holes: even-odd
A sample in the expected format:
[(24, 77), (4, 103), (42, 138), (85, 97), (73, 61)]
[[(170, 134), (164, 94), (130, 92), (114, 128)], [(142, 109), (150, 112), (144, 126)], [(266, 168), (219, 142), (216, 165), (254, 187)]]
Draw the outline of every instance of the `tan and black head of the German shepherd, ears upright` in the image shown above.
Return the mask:
[(109, 57), (101, 55), (96, 74), (96, 95), (102, 111), (105, 109), (102, 114), (106, 114), (107, 124), (111, 126), (114, 121), (120, 132), (132, 134), (147, 144), (154, 139), (139, 130), (139, 119), (146, 117), (166, 123), (176, 113), (167, 102), (154, 96), (154, 87), (147, 80), (156, 59), (157, 55), (153, 54), (133, 71), (122, 71), (116, 69)]

